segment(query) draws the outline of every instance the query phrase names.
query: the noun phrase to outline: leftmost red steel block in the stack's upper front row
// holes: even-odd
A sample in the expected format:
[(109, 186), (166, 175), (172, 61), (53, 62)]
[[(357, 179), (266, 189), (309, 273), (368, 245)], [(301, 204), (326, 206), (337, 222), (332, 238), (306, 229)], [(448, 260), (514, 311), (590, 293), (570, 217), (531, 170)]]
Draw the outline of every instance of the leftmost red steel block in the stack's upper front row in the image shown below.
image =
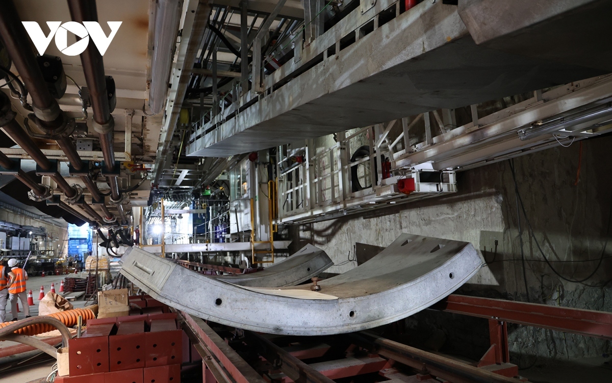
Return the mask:
[(114, 324), (88, 325), (81, 338), (70, 341), (70, 376), (108, 371), (108, 336)]

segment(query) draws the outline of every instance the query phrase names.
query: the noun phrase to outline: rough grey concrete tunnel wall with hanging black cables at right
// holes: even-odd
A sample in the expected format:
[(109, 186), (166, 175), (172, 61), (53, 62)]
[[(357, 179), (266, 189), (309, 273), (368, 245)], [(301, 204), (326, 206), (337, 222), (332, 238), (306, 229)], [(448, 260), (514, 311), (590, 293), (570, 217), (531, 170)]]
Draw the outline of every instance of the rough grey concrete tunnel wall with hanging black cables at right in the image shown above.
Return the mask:
[[(526, 213), (550, 260), (599, 259), (612, 196), (611, 146), (610, 136), (583, 141), (580, 181), (576, 186), (578, 142), (569, 148), (553, 148), (514, 160)], [(542, 261), (522, 216), (521, 227), (525, 258)], [(305, 242), (312, 243), (324, 249), (334, 264), (339, 264), (349, 254), (353, 256), (354, 243), (387, 246), (402, 232), (469, 241), (481, 253), (487, 249), (487, 261), (494, 258), (495, 262), (482, 268), (461, 288), (460, 294), (528, 300), (521, 262), (512, 260), (520, 259), (521, 251), (508, 161), (459, 173), (455, 195), (373, 211), (367, 216), (301, 225), (299, 243), (296, 241), (293, 246), (299, 248)], [(491, 251), (494, 240), (498, 240), (496, 255)], [(605, 257), (611, 255), (612, 243), (608, 243)], [(594, 270), (597, 262), (553, 265), (565, 278), (582, 279)], [(356, 262), (328, 271), (341, 273), (353, 267)], [(586, 284), (563, 281), (545, 262), (526, 262), (526, 278), (529, 298), (534, 303), (612, 311), (612, 284), (586, 286), (602, 285), (612, 279), (611, 258), (603, 260)], [(420, 336), (423, 344), (433, 348), (439, 348), (448, 338), (446, 344), (461, 347), (457, 352), (477, 359), (489, 346), (488, 325), (484, 319), (426, 310), (406, 319), (406, 324), (419, 330), (413, 336)], [(543, 363), (546, 358), (590, 357), (612, 351), (610, 342), (603, 339), (518, 325), (509, 326), (509, 343), (512, 362), (521, 368)], [(539, 358), (529, 355), (539, 355)]]

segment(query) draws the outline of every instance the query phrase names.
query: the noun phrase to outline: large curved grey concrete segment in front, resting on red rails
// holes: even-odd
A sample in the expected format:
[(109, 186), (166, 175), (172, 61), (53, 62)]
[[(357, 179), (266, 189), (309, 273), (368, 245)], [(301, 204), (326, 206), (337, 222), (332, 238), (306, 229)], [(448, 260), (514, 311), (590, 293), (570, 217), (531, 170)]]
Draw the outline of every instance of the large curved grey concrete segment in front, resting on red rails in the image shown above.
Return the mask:
[(121, 273), (157, 300), (245, 330), (332, 335), (389, 324), (428, 308), (477, 273), (482, 259), (467, 242), (402, 234), (359, 267), (319, 284), (242, 287), (208, 278), (132, 248)]

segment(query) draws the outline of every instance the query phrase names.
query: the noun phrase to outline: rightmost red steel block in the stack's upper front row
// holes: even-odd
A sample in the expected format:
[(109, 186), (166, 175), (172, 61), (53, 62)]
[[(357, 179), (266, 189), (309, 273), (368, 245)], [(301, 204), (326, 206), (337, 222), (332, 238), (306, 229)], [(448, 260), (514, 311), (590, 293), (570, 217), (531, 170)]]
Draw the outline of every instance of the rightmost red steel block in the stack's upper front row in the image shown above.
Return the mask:
[(145, 366), (181, 364), (182, 330), (176, 329), (174, 319), (152, 320), (151, 332), (144, 336)]

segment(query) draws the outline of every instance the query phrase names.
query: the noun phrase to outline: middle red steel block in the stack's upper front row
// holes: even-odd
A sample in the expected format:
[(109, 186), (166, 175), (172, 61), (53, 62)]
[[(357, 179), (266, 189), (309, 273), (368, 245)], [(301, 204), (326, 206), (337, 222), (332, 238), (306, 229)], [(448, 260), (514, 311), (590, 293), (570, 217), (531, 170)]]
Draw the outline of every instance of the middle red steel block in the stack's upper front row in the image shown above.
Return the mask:
[(144, 367), (144, 320), (120, 322), (116, 335), (108, 338), (110, 371)]

